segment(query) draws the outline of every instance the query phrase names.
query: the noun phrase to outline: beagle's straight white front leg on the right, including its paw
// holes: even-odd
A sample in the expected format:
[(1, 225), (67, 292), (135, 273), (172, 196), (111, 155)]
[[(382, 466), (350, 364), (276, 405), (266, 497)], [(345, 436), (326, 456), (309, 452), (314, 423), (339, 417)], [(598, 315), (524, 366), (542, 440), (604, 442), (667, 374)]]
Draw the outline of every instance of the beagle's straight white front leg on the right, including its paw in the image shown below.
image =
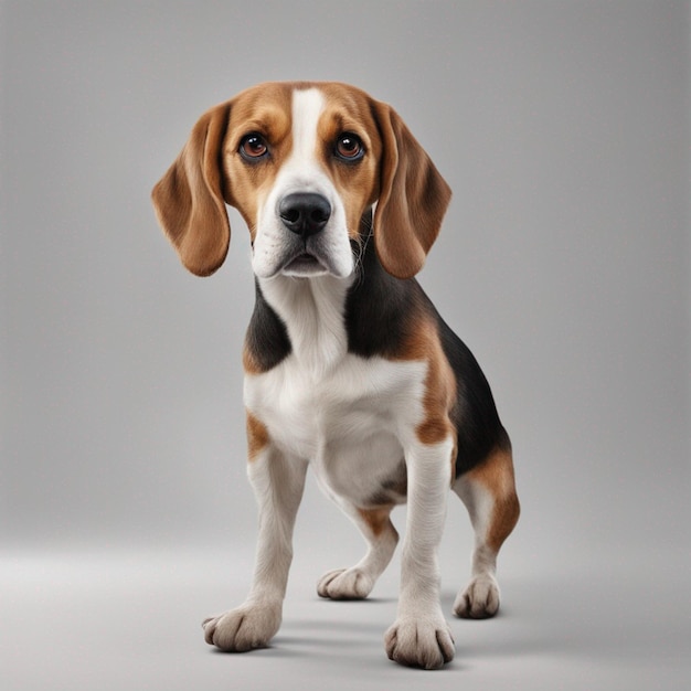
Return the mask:
[(454, 659), (454, 638), (439, 603), (437, 550), (450, 486), (450, 439), (406, 449), (408, 514), (398, 613), (386, 631), (386, 653), (402, 665), (437, 669)]

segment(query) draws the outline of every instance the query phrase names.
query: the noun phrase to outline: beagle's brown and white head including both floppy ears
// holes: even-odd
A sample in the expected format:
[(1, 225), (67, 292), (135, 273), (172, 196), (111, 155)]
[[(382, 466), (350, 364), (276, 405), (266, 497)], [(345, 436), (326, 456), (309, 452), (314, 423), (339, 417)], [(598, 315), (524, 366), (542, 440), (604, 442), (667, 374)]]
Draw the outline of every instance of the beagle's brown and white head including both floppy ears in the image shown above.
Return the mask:
[(205, 113), (153, 188), (159, 222), (193, 274), (227, 253), (225, 203), (249, 227), (253, 269), (348, 277), (361, 220), (375, 204), (382, 266), (408, 278), (424, 264), (450, 190), (400, 116), (336, 83), (269, 83)]

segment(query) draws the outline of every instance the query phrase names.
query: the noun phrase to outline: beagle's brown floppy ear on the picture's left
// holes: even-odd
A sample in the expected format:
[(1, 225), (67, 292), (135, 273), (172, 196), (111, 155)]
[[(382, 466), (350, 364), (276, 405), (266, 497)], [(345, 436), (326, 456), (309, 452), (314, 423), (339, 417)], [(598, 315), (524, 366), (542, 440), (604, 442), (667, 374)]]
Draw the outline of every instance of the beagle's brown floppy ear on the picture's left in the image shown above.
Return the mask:
[(230, 109), (230, 103), (222, 104), (199, 119), (151, 192), (161, 227), (182, 264), (198, 276), (209, 276), (223, 264), (231, 241), (221, 170)]

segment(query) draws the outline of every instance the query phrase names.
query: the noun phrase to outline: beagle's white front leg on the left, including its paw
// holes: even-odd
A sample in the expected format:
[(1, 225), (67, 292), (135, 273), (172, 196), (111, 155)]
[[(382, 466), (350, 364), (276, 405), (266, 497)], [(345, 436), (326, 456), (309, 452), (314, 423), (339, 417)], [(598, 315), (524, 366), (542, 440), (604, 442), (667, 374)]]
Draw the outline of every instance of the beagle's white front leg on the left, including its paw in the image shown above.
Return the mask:
[(265, 648), (278, 631), (306, 471), (306, 461), (287, 458), (272, 444), (251, 458), (248, 476), (259, 507), (254, 581), (240, 607), (204, 621), (208, 644), (243, 652)]

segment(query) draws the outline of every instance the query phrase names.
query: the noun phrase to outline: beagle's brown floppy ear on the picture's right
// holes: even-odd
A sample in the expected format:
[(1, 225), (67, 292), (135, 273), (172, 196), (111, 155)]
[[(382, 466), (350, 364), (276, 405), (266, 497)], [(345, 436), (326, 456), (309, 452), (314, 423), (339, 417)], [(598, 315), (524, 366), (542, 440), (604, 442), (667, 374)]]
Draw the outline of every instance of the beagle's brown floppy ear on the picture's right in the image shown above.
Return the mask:
[(439, 234), (451, 190), (391, 106), (375, 103), (374, 114), (383, 145), (376, 254), (391, 275), (411, 278)]

